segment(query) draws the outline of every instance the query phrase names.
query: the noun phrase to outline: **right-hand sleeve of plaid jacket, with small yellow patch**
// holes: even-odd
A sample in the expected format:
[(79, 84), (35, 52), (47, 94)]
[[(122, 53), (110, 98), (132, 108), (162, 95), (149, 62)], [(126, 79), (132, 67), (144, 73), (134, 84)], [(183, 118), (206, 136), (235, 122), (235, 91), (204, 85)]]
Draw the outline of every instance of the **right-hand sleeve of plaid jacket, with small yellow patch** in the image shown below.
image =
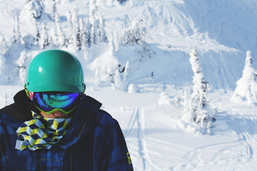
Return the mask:
[(133, 171), (126, 141), (117, 121), (109, 130), (107, 144), (107, 158), (104, 170)]

